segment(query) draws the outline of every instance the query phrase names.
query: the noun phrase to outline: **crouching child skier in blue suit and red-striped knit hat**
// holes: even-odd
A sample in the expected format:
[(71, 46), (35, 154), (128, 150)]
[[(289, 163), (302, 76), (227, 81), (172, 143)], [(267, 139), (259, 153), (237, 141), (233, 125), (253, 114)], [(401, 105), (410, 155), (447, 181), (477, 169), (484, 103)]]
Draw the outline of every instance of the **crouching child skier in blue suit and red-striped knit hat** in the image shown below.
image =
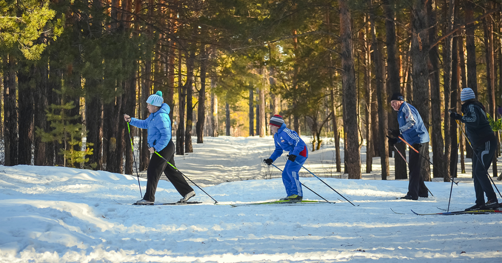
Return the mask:
[[(270, 119), (270, 130), (274, 134), (274, 144), (276, 149), (270, 158), (263, 160), (271, 165), (283, 151), (289, 152), (288, 160), (282, 173), (284, 187), (286, 188), (286, 198), (281, 200), (302, 200), (302, 184), (298, 172), (308, 157), (307, 145), (300, 138), (298, 133), (286, 128), (281, 115), (274, 115)], [(295, 162), (296, 161), (296, 162)]]

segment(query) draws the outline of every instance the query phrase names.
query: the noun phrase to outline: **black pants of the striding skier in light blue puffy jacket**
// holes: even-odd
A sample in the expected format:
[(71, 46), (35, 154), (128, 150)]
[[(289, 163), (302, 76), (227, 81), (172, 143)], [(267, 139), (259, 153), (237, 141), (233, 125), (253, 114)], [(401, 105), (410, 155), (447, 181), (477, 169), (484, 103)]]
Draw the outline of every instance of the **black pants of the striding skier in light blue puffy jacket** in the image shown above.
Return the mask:
[[(174, 143), (171, 140), (164, 149), (159, 151), (159, 154), (168, 160), (172, 165), (175, 165), (174, 150)], [(155, 191), (157, 191), (157, 184), (159, 184), (162, 172), (164, 172), (167, 179), (169, 179), (181, 196), (185, 196), (193, 191), (192, 187), (188, 185), (187, 181), (183, 177), (183, 174), (179, 170), (171, 167), (171, 165), (157, 155), (157, 153), (154, 153), (152, 154), (152, 157), (150, 157), (150, 164), (148, 164), (147, 191), (145, 192), (143, 199), (152, 202), (155, 201)]]

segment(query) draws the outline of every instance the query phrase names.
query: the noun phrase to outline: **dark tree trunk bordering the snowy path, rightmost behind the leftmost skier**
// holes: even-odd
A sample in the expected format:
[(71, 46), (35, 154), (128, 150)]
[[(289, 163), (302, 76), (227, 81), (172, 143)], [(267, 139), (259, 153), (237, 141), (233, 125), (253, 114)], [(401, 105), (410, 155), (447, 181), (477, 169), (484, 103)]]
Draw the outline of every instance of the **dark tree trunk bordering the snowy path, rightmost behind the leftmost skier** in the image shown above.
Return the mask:
[(197, 143), (204, 142), (204, 122), (206, 121), (206, 69), (207, 56), (204, 45), (200, 47), (200, 90), (197, 105)]

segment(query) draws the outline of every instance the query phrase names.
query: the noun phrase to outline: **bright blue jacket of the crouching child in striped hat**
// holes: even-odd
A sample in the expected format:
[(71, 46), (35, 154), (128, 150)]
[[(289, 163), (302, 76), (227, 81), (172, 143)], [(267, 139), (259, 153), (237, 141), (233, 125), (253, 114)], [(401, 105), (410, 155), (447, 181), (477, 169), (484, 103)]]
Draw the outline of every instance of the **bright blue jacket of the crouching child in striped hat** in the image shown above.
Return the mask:
[(270, 156), (273, 161), (279, 158), (279, 156), (283, 154), (283, 151), (288, 151), (289, 154), (296, 156), (300, 155), (305, 158), (309, 156), (305, 142), (300, 139), (298, 133), (286, 128), (285, 123), (283, 123), (276, 134), (274, 134), (274, 144), (276, 145), (276, 149)]

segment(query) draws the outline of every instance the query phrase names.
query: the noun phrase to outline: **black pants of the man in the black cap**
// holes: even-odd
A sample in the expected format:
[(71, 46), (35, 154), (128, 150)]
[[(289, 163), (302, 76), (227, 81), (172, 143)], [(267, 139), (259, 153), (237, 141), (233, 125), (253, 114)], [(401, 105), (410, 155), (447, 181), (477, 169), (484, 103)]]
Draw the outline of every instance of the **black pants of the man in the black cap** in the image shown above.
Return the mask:
[[(412, 145), (413, 148), (422, 156), (427, 156), (429, 154), (429, 142), (416, 143)], [(410, 183), (408, 184), (408, 195), (413, 199), (418, 199), (418, 197), (429, 197), (427, 187), (424, 183), (425, 172), (422, 172), (422, 165), (424, 163), (424, 157), (420, 156), (413, 149), (410, 149), (410, 157), (408, 162), (408, 169), (410, 170)]]

